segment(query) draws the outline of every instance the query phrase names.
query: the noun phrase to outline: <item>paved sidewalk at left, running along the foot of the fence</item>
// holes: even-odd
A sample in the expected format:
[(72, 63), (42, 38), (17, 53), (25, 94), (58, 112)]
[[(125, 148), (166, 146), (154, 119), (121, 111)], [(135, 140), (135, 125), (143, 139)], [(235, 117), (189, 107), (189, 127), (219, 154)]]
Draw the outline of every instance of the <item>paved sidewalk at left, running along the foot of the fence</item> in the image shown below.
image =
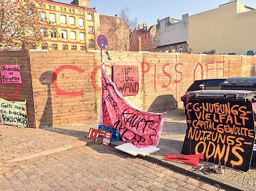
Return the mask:
[(85, 134), (96, 123), (64, 128), (16, 128), (0, 126), (0, 171), (1, 161), (14, 162), (47, 155), (87, 143)]

